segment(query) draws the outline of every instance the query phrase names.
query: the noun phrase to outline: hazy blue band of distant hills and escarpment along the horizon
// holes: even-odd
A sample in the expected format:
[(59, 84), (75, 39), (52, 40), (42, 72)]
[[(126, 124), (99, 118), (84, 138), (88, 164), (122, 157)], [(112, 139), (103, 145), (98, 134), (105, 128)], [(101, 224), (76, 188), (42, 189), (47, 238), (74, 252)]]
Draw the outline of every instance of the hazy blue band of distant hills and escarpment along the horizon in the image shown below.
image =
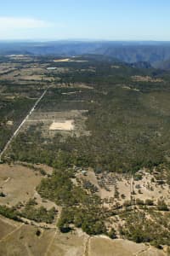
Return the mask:
[[(0, 54), (30, 55), (105, 55), (127, 63), (150, 63), (153, 67), (167, 67), (170, 42), (0, 42)], [(162, 66), (161, 66), (162, 65)]]

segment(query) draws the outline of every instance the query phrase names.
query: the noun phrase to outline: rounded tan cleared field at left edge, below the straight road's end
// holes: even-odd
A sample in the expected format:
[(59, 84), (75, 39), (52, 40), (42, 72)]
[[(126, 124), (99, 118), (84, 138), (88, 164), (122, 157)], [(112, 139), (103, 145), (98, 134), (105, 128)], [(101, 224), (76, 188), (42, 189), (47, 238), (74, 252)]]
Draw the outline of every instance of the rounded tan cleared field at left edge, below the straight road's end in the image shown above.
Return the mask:
[(40, 172), (25, 166), (0, 165), (0, 191), (6, 195), (0, 197), (0, 204), (14, 206), (20, 201), (28, 201), (41, 180)]

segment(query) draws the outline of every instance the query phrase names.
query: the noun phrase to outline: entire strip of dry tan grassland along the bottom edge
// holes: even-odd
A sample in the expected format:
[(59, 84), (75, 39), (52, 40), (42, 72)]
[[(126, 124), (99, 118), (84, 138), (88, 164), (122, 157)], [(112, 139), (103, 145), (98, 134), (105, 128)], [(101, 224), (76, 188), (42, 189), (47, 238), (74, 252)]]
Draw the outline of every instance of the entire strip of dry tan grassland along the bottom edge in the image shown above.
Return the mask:
[[(59, 234), (54, 230), (41, 230), (32, 225), (15, 224), (0, 219), (0, 253), (6, 256), (166, 256), (167, 253), (132, 241), (111, 241), (105, 237), (92, 237), (81, 232)], [(3, 231), (5, 230), (5, 231)], [(38, 235), (37, 235), (38, 234)]]

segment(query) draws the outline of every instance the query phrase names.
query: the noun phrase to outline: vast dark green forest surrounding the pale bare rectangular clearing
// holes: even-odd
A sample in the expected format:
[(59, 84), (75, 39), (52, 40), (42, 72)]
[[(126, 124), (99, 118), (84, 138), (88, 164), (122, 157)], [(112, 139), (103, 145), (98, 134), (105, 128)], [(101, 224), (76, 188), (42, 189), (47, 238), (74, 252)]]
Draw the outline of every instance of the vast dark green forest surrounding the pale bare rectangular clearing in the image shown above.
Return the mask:
[[(91, 65), (94, 63), (92, 60)], [(89, 67), (86, 62), (81, 65)], [(97, 61), (95, 72), (89, 76), (82, 69), (77, 71), (77, 64), (67, 64), (71, 71), (60, 76), (68, 86), (49, 89), (37, 109), (42, 112), (88, 110), (84, 115), (90, 136), (67, 137), (63, 141), (56, 133), (45, 143), (47, 138), (41, 137), (41, 129), (31, 126), (26, 134), (16, 137), (10, 150), (12, 159), (53, 166), (54, 156), (61, 151), (70, 165), (92, 166), (96, 171), (108, 172), (135, 172), (165, 162), (170, 154), (168, 75), (159, 77), (162, 82), (135, 82), (132, 77), (144, 73), (157, 79), (157, 74), (153, 75), (156, 70), (122, 65), (115, 71), (112, 65), (110, 61)], [(80, 93), (75, 88), (78, 82), (87, 83), (93, 89), (81, 89)]]

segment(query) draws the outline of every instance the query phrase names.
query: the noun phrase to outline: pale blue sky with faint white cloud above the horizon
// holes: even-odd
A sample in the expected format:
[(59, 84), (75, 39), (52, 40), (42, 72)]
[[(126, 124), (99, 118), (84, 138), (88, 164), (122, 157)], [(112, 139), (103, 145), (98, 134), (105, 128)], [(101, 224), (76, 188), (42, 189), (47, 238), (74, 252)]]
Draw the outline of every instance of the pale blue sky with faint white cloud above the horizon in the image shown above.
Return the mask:
[(169, 0), (5, 0), (0, 40), (170, 41)]

